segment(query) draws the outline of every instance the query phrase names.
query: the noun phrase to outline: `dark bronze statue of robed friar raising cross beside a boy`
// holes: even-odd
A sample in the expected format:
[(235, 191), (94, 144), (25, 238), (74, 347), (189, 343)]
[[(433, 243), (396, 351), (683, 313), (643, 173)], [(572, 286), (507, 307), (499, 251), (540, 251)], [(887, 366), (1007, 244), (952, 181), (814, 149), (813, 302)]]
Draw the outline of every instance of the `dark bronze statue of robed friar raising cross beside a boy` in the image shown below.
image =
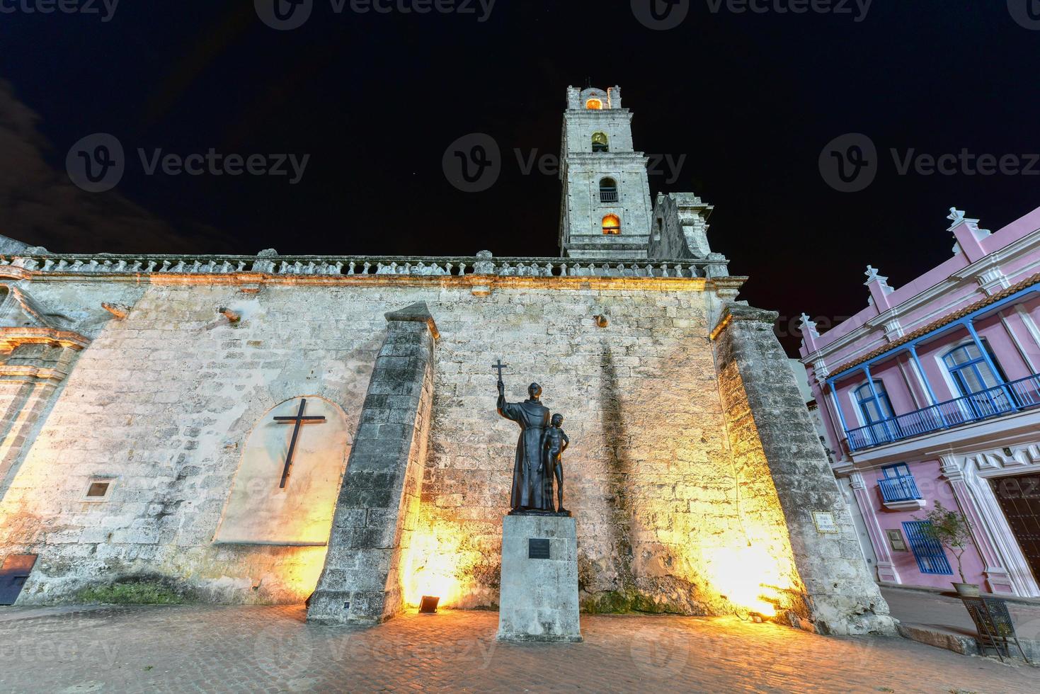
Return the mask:
[[(520, 438), (513, 466), (513, 488), (510, 494), (510, 515), (571, 515), (563, 508), (564, 478), (560, 433), (549, 436), (549, 408), (542, 405), (542, 386), (531, 383), (528, 399), (522, 403), (505, 402), (505, 384), (502, 382), (501, 360), (493, 365), (498, 369), (498, 414), (520, 425)], [(560, 417), (561, 415), (555, 415)], [(557, 425), (558, 427), (558, 425)], [(566, 435), (564, 435), (566, 439)], [(569, 443), (569, 441), (568, 441)], [(554, 508), (552, 479), (555, 474), (560, 507)]]

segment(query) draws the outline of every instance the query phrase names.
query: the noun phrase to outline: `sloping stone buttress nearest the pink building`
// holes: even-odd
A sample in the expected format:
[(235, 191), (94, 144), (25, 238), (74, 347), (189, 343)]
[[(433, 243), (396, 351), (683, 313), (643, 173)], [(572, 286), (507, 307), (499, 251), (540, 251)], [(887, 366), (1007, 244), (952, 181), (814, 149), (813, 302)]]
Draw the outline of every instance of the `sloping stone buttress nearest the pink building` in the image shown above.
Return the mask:
[[(823, 634), (891, 634), (888, 606), (867, 572), (809, 413), (798, 407), (802, 399), (773, 331), (776, 318), (730, 305), (714, 331), (745, 513), (759, 529), (756, 541), (773, 552), (784, 545), (792, 552), (782, 607), (795, 625)], [(818, 533), (813, 511), (832, 513), (839, 533)]]

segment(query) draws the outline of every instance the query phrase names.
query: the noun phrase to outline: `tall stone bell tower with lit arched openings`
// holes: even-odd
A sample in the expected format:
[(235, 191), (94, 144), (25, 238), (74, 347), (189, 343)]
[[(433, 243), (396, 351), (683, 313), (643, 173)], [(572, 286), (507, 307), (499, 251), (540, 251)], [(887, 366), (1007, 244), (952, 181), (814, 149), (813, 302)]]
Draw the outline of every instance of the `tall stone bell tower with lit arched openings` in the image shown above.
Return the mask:
[(567, 87), (560, 153), (561, 255), (646, 258), (652, 209), (647, 157), (632, 148), (621, 87)]

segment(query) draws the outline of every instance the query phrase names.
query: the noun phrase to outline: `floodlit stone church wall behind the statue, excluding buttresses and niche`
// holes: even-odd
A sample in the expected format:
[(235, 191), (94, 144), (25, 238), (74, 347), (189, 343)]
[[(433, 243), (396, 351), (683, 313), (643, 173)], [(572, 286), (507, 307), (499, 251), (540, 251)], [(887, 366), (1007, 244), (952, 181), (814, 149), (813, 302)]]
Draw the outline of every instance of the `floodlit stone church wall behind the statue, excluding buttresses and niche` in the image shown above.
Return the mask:
[[(702, 280), (577, 279), (512, 278), (490, 297), (448, 280), (255, 293), (32, 282), (41, 305), (83, 316), (93, 343), (0, 506), (3, 554), (41, 556), (23, 601), (148, 574), (205, 599), (306, 597), (323, 547), (211, 542), (241, 446), (267, 410), (301, 395), (337, 404), (353, 432), (384, 313), (425, 301), (441, 339), (406, 597), (496, 601), (517, 436), (494, 410), (491, 363), (501, 357), (511, 400), (538, 380), (566, 417), (565, 500), (578, 518), (586, 607), (723, 609), (702, 556), (738, 526), (707, 337), (712, 294)], [(101, 301), (121, 300), (132, 304), (124, 319), (95, 316)], [(220, 308), (241, 319), (229, 323)], [(114, 478), (108, 500), (83, 500), (93, 475)]]

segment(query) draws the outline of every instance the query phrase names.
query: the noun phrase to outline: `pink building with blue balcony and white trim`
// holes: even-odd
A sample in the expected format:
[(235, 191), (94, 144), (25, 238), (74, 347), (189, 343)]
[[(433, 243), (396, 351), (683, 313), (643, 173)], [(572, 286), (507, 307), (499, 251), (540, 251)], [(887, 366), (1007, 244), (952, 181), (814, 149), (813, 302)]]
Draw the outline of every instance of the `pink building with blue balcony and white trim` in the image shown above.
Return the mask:
[(1038, 596), (1040, 208), (995, 233), (951, 212), (953, 257), (898, 289), (867, 266), (866, 308), (824, 335), (802, 316), (802, 363), (879, 581), (960, 581), (914, 517), (941, 500), (972, 525), (969, 583)]

